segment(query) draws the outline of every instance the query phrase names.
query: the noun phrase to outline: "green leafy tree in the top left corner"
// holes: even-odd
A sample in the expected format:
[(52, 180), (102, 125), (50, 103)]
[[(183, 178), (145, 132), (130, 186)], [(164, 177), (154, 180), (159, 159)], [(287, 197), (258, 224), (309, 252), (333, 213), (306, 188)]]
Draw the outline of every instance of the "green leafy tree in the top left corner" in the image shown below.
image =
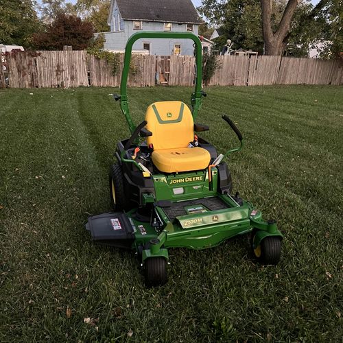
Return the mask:
[(0, 43), (29, 47), (30, 38), (40, 29), (31, 0), (0, 1)]

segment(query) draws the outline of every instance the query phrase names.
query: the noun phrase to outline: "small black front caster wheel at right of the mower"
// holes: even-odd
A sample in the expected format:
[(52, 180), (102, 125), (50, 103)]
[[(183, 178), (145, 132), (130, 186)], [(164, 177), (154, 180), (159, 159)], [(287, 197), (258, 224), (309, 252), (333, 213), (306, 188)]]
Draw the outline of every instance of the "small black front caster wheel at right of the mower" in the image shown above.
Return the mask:
[[(252, 242), (254, 235), (252, 235)], [(251, 244), (252, 246), (252, 244)], [(253, 248), (257, 260), (266, 265), (276, 265), (281, 258), (281, 238), (275, 236), (265, 237), (259, 246)]]

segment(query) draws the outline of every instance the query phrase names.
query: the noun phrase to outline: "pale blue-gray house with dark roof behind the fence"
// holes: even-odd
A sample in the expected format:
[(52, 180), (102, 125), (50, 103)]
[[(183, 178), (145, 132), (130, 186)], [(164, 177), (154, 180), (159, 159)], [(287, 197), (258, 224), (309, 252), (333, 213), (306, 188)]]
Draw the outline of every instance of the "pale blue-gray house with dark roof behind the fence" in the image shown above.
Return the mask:
[[(123, 52), (135, 32), (175, 31), (198, 35), (201, 23), (191, 0), (112, 0), (108, 14), (110, 32), (104, 32), (104, 49)], [(193, 41), (141, 39), (132, 52), (151, 55), (193, 55)]]

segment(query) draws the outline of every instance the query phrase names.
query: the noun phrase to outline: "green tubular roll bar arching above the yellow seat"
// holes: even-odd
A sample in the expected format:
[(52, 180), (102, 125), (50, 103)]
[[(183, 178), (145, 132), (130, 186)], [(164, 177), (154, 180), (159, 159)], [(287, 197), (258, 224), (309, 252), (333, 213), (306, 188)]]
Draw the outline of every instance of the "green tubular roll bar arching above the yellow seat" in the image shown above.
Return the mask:
[(126, 43), (125, 56), (124, 56), (124, 67), (121, 73), (121, 84), (120, 84), (120, 108), (123, 115), (128, 121), (128, 126), (130, 132), (134, 132), (136, 126), (134, 125), (132, 118), (130, 116), (130, 110), (128, 107), (128, 73), (130, 70), (130, 60), (132, 53), (132, 46), (141, 38), (171, 38), (171, 39), (191, 39), (196, 45), (196, 88), (194, 93), (191, 95), (191, 107), (193, 120), (195, 121), (198, 116), (198, 111), (201, 107), (201, 97), (202, 97), (202, 47), (198, 36), (192, 34), (191, 32), (137, 32), (137, 34), (132, 34)]

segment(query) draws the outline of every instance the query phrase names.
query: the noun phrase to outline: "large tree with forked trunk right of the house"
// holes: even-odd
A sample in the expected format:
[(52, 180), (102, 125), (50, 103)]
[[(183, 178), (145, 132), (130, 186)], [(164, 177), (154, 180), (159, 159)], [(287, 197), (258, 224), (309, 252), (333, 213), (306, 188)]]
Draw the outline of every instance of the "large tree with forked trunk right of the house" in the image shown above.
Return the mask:
[(305, 0), (203, 0), (199, 9), (212, 24), (222, 25), (234, 49), (305, 56), (322, 35), (318, 13), (328, 1), (342, 0), (320, 0), (316, 7)]

